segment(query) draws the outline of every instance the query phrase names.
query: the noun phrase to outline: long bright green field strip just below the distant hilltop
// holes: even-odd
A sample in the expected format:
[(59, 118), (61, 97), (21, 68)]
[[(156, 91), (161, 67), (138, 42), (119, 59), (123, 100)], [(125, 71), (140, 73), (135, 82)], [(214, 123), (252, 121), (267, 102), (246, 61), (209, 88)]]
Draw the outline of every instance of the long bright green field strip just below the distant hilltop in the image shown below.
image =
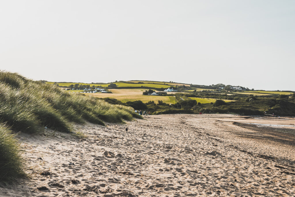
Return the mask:
[[(54, 82), (46, 82), (47, 84), (53, 84)], [(71, 84), (82, 84), (82, 85), (90, 85), (90, 87), (94, 86), (102, 86), (102, 87), (108, 87), (109, 84), (86, 84), (86, 83), (57, 83), (59, 86), (70, 86)], [(172, 85), (164, 85), (164, 84), (128, 84), (128, 83), (122, 83), (122, 82), (116, 82), (114, 83), (117, 85), (117, 87), (152, 87), (152, 88), (168, 88)]]

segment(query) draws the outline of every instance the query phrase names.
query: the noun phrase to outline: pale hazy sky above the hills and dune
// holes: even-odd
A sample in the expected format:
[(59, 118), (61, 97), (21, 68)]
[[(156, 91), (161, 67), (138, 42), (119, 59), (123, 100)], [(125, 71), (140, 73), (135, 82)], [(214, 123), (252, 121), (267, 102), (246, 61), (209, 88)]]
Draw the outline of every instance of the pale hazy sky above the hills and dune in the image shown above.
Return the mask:
[(0, 2), (0, 69), (34, 80), (294, 90), (295, 1)]

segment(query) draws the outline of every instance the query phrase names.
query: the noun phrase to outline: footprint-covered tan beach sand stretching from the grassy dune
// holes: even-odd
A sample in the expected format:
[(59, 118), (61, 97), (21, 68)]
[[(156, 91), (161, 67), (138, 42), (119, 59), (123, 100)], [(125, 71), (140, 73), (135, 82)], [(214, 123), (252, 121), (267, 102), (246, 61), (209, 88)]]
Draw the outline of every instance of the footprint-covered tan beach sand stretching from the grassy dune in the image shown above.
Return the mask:
[(295, 128), (251, 121), (278, 120), (156, 115), (77, 125), (88, 136), (82, 140), (21, 134), (31, 178), (2, 185), (0, 196), (294, 196)]

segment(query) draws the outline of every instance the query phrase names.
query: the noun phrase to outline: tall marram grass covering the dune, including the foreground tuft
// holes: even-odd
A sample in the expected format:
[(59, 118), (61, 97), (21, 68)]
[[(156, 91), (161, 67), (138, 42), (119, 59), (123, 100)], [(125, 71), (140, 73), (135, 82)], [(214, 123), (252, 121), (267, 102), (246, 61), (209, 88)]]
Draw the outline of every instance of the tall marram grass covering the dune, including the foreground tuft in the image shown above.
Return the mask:
[[(141, 118), (127, 106), (70, 93), (16, 73), (1, 71), (0, 86), (0, 181), (22, 175), (22, 162), (11, 131), (37, 133), (47, 127), (70, 133), (72, 122), (104, 125), (104, 121), (120, 123)], [(11, 174), (7, 174), (8, 169)]]

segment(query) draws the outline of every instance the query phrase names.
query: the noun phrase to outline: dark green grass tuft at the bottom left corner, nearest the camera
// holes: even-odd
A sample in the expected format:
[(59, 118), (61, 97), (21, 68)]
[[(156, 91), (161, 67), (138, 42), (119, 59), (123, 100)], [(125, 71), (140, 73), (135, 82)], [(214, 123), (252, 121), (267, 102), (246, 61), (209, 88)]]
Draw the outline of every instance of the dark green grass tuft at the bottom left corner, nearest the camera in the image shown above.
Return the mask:
[(10, 128), (0, 123), (0, 182), (25, 176), (18, 144)]

